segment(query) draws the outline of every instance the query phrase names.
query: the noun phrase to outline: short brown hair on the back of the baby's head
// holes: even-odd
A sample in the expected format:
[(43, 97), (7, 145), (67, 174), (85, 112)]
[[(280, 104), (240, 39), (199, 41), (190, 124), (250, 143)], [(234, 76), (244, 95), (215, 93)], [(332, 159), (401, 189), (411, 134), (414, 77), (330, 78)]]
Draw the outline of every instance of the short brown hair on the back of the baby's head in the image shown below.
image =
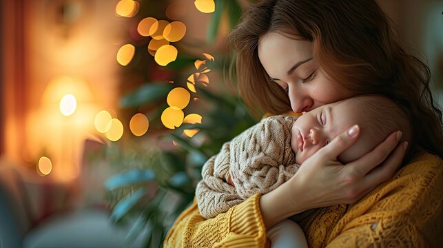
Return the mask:
[(360, 124), (362, 132), (364, 130), (371, 132), (372, 139), (378, 143), (389, 134), (400, 130), (402, 138), (399, 143), (403, 141), (409, 143), (404, 159), (405, 162), (409, 161), (414, 146), (411, 118), (400, 105), (379, 95), (356, 96), (348, 101), (353, 101), (353, 104), (356, 104), (356, 107), (364, 112), (364, 120)]

